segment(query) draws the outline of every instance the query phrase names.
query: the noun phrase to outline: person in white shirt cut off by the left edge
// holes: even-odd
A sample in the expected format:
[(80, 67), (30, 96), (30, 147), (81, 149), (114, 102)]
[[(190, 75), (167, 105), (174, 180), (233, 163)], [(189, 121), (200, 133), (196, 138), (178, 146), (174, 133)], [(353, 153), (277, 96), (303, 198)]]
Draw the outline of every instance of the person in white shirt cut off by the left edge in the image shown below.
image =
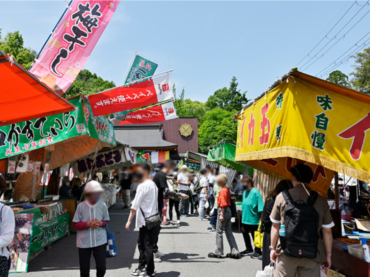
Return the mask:
[[(6, 182), (0, 177), (0, 197), (7, 190)], [(10, 269), (10, 252), (7, 247), (13, 242), (16, 221), (13, 210), (0, 203), (0, 277), (7, 277)]]

